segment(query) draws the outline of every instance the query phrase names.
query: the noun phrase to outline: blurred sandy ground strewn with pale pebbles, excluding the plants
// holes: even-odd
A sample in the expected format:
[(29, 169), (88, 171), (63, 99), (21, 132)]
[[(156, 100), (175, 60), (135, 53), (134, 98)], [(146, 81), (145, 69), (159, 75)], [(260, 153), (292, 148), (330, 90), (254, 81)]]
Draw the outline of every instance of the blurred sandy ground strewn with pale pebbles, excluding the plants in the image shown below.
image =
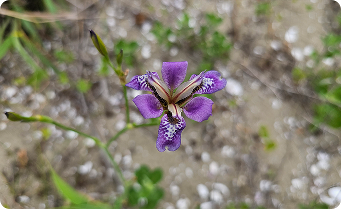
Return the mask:
[[(124, 175), (133, 177), (141, 164), (161, 167), (166, 195), (159, 208), (225, 208), (231, 203), (297, 208), (313, 201), (341, 207), (340, 133), (328, 127), (317, 134), (309, 132), (312, 104), (319, 101), (308, 85), (291, 79), (294, 66), (309, 65), (309, 53), (313, 48), (322, 50), (321, 37), (333, 30), (332, 1), (274, 0), (271, 14), (262, 17), (254, 14), (253, 0), (70, 2), (80, 20), (62, 22), (70, 30), (44, 44), (47, 50), (63, 47), (75, 54), (74, 63), (58, 67), (67, 70), (71, 79), (91, 79), (91, 92), (83, 95), (56, 81), (38, 91), (17, 87), (10, 80), (25, 74), (28, 67), (18, 54), (7, 54), (1, 61), (1, 112), (49, 115), (108, 140), (125, 125), (124, 99), (114, 75), (96, 75), (100, 58), (87, 31), (100, 34), (109, 51), (114, 48), (112, 40), (137, 41), (140, 64), (130, 69), (129, 79), (146, 69), (160, 74), (163, 61), (187, 60), (191, 73), (198, 64), (195, 57), (176, 47), (170, 51), (160, 47), (150, 33), (152, 23), (158, 19), (175, 27), (186, 11), (195, 27), (202, 13), (215, 12), (224, 18), (220, 30), (232, 34), (233, 49), (227, 63), (214, 66), (227, 79), (227, 87), (213, 95), (213, 116), (202, 123), (186, 118), (182, 144), (175, 152), (157, 151), (156, 126), (121, 135), (110, 151)], [(307, 4), (313, 9), (306, 10)], [(135, 16), (140, 12), (147, 18), (137, 27)], [(330, 63), (322, 65), (328, 68)], [(128, 93), (133, 99), (140, 92)], [(142, 122), (133, 102), (130, 106), (133, 122)], [(51, 125), (9, 122), (4, 115), (0, 119), (0, 206), (60, 206), (61, 197), (47, 176), (47, 162), (94, 199), (110, 202), (122, 192), (110, 162), (92, 140)], [(273, 150), (265, 150), (258, 135), (262, 125), (276, 144)], [(47, 140), (41, 131), (46, 127), (51, 130)]]

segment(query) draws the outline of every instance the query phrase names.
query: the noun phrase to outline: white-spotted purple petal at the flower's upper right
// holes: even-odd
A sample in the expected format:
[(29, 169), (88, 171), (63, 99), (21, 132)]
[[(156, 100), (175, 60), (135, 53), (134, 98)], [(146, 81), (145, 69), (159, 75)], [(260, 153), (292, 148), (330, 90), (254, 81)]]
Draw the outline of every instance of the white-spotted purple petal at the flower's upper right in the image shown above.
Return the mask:
[[(190, 78), (194, 77), (195, 75), (192, 75)], [(212, 94), (223, 89), (226, 86), (226, 80), (221, 78), (219, 72), (211, 70), (205, 73), (201, 85), (200, 89), (195, 92), (196, 94)]]

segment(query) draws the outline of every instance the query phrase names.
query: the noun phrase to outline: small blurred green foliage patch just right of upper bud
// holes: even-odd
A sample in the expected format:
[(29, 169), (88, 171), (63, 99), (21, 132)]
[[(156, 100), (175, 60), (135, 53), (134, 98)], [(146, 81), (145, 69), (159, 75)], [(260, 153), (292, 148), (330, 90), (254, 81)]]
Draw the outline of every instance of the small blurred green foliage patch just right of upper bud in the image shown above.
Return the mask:
[(123, 50), (123, 60), (128, 66), (133, 66), (136, 59), (135, 52), (138, 49), (138, 44), (135, 41), (119, 40), (115, 44), (115, 53), (119, 54)]

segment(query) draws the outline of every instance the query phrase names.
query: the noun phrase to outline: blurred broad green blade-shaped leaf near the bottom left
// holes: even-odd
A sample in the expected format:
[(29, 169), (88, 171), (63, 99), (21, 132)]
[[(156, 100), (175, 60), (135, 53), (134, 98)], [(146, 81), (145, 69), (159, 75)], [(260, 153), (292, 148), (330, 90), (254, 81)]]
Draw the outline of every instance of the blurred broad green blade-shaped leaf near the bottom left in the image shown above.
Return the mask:
[(89, 199), (84, 194), (77, 192), (74, 188), (72, 188), (52, 168), (51, 175), (58, 191), (73, 204), (80, 205), (89, 202)]

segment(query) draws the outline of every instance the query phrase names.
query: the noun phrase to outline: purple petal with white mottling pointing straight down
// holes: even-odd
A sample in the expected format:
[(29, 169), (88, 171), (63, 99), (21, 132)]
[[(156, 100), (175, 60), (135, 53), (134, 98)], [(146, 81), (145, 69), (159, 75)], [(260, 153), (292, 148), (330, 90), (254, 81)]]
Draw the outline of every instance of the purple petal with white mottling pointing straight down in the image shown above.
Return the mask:
[(164, 152), (166, 147), (169, 151), (179, 149), (181, 144), (181, 132), (186, 127), (186, 122), (180, 116), (180, 121), (176, 124), (171, 124), (168, 121), (168, 116), (165, 114), (159, 126), (159, 134), (157, 135), (156, 148), (160, 152)]

